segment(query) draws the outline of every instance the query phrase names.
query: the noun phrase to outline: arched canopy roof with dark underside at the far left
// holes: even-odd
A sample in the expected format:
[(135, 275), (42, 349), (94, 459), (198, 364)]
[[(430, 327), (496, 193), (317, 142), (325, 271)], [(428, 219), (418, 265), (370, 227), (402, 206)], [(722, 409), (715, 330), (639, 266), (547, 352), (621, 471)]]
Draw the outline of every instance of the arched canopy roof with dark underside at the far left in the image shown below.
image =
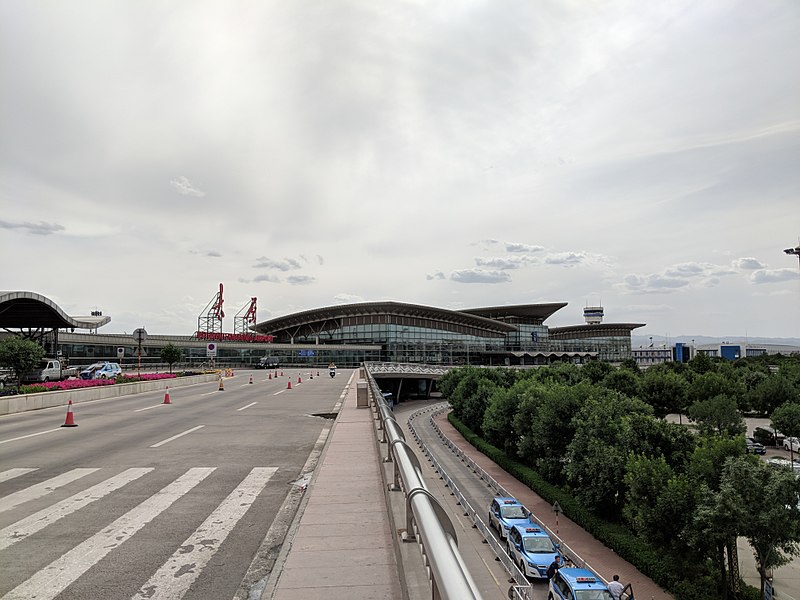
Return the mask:
[(35, 292), (0, 292), (0, 328), (96, 329), (110, 322), (111, 317), (70, 317)]

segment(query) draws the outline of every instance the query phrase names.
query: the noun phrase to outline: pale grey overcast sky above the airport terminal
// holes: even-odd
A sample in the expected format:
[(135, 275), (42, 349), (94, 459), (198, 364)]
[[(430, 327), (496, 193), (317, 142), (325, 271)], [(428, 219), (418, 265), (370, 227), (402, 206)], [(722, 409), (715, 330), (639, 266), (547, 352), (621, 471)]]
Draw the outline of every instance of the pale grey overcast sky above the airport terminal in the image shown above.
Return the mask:
[(0, 289), (800, 337), (797, 0), (0, 0)]

